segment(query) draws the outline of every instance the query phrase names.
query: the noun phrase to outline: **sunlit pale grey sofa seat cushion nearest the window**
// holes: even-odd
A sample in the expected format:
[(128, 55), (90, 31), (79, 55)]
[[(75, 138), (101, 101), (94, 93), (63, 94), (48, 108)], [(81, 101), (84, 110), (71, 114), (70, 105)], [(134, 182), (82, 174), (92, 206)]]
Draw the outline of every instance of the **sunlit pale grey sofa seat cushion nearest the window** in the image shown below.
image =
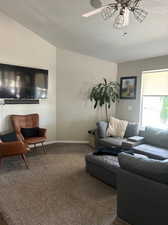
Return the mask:
[(153, 159), (168, 159), (168, 150), (152, 145), (142, 144), (133, 148), (135, 153), (147, 155)]

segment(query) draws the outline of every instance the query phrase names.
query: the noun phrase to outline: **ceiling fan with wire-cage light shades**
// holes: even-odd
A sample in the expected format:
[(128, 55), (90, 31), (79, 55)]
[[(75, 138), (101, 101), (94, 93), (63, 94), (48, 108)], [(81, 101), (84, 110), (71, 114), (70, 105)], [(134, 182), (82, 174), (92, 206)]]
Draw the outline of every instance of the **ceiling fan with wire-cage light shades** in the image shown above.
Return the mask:
[(101, 0), (90, 0), (90, 4), (95, 10), (85, 13), (83, 17), (90, 17), (101, 13), (104, 20), (107, 20), (113, 16), (114, 28), (120, 29), (128, 26), (130, 13), (132, 13), (135, 19), (142, 23), (148, 12), (141, 8), (140, 4), (143, 0), (112, 0), (112, 3), (103, 5)]

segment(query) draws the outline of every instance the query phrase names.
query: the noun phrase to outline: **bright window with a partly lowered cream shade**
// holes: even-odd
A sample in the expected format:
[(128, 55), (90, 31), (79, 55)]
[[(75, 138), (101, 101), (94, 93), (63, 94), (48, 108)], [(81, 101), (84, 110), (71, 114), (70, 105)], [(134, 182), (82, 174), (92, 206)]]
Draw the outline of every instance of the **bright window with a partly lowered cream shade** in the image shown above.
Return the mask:
[(168, 70), (142, 74), (142, 127), (168, 128)]

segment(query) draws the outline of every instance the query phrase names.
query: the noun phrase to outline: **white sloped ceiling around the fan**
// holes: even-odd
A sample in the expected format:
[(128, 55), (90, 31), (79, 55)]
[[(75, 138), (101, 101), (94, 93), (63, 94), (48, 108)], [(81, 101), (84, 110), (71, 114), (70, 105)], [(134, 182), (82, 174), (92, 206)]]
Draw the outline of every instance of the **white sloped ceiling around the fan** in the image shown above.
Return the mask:
[(89, 0), (0, 0), (2, 12), (55, 46), (113, 62), (168, 54), (168, 1), (144, 6), (149, 15), (142, 24), (131, 17), (127, 28), (114, 30), (100, 15), (81, 17), (93, 9)]

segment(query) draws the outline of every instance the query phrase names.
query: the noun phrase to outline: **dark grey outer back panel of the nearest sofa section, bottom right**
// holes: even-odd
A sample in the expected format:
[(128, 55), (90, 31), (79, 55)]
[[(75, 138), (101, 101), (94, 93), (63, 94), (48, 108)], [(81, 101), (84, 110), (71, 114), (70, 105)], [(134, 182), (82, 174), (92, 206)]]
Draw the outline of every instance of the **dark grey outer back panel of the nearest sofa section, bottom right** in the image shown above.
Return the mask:
[(117, 192), (117, 216), (127, 223), (158, 225), (168, 220), (167, 185), (118, 169)]

